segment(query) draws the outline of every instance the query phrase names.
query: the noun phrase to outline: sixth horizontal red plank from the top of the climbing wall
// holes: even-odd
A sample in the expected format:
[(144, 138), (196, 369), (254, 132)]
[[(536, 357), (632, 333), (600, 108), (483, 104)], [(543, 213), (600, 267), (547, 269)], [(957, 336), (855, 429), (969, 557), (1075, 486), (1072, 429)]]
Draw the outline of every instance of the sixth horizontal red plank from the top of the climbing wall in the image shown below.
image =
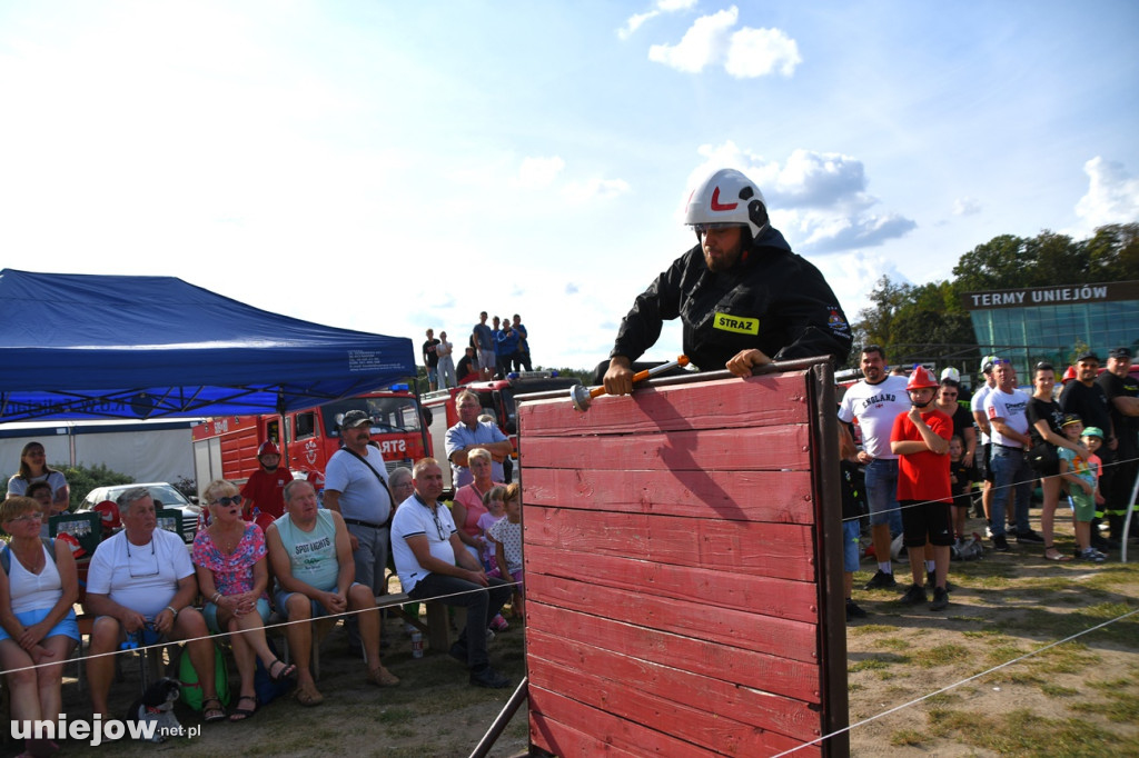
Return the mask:
[[(566, 610), (603, 613), (609, 618), (685, 636), (699, 636), (735, 648), (818, 662), (814, 624), (756, 616), (721, 608), (708, 613), (700, 603), (611, 590), (526, 571), (526, 607), (547, 603)], [(698, 620), (698, 621), (697, 621)], [(573, 637), (572, 631), (567, 636)]]

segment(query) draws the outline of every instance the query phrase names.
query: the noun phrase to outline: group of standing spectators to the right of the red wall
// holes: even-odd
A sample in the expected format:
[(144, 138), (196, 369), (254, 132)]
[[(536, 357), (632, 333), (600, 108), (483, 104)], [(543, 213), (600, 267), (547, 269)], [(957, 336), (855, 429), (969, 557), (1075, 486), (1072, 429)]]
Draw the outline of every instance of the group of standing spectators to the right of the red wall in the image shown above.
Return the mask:
[[(951, 558), (980, 551), (980, 535), (967, 533), (970, 512), (985, 519), (995, 552), (1010, 552), (1010, 538), (1055, 562), (1101, 563), (1118, 550), (1139, 473), (1139, 382), (1131, 359), (1130, 348), (1118, 347), (1101, 368), (1085, 351), (1059, 382), (1052, 364), (1036, 363), (1030, 393), (1018, 388), (1009, 361), (989, 355), (984, 382), (966, 398), (956, 369), (945, 369), (940, 381), (923, 366), (887, 371), (885, 351), (863, 347), (863, 378), (845, 388), (838, 409), (847, 621), (866, 616), (851, 592), (863, 503), (872, 542), (867, 554), (877, 562), (865, 588), (899, 587), (893, 559), (904, 551), (912, 583), (901, 602), (925, 603), (932, 591), (935, 611), (949, 605)], [(1039, 532), (1030, 511), (1038, 485)], [(1056, 545), (1062, 504), (1072, 513), (1072, 553)]]

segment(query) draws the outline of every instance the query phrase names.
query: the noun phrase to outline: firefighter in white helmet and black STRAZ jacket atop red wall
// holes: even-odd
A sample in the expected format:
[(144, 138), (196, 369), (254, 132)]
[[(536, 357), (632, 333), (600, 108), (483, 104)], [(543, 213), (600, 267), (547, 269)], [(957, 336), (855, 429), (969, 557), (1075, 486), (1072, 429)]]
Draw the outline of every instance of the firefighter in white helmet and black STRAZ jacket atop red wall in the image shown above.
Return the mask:
[(851, 330), (837, 298), (812, 264), (792, 253), (768, 220), (759, 188), (738, 171), (712, 174), (688, 200), (685, 222), (697, 245), (637, 297), (621, 322), (607, 393), (632, 392), (632, 362), (679, 318), (683, 349), (703, 371), (738, 376), (772, 361), (829, 355), (842, 362)]

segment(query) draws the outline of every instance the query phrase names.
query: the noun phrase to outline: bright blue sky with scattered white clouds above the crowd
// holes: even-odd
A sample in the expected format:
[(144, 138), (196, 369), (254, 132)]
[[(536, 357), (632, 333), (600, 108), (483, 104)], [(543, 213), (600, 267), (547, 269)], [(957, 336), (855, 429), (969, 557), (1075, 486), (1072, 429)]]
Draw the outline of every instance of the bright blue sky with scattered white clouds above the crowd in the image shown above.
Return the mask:
[(1122, 1), (9, 0), (0, 264), (417, 345), (521, 313), (583, 368), (730, 166), (855, 319), (997, 234), (1139, 220), (1137, 32)]

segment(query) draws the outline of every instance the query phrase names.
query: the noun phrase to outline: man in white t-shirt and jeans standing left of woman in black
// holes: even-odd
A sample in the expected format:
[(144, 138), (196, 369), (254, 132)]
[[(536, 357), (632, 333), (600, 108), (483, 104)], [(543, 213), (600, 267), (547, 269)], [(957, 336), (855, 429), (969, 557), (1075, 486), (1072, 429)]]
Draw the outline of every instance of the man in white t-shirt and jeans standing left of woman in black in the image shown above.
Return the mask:
[(1029, 396), (1016, 388), (1016, 372), (1008, 361), (998, 360), (993, 364), (997, 386), (985, 397), (985, 418), (989, 419), (993, 455), (993, 502), (992, 541), (993, 550), (1008, 552), (1005, 536), (1005, 508), (1015, 492), (1016, 541), (1043, 544), (1044, 538), (1032, 530), (1029, 524), (1029, 505), (1032, 500), (1032, 472), (1024, 458), (1032, 447), (1029, 436)]

